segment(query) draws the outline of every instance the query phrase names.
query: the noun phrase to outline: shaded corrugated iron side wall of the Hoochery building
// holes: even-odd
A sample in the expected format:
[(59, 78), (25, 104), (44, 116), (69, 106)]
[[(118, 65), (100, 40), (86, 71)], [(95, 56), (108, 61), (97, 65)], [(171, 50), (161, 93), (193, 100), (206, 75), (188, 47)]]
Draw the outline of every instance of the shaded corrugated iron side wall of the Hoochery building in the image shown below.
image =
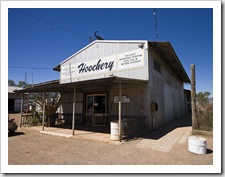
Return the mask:
[[(154, 68), (154, 60), (160, 72)], [(184, 115), (183, 82), (155, 51), (149, 51), (149, 104), (156, 102), (158, 111), (150, 111), (149, 127), (155, 129)]]

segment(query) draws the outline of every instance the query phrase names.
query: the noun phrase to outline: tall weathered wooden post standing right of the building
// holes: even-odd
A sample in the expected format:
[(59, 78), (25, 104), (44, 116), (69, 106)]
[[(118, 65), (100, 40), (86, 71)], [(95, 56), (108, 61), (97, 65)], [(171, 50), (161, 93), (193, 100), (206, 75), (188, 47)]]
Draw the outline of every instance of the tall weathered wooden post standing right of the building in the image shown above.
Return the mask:
[(196, 117), (196, 81), (195, 81), (195, 65), (191, 65), (191, 108), (192, 108), (192, 130), (198, 129)]

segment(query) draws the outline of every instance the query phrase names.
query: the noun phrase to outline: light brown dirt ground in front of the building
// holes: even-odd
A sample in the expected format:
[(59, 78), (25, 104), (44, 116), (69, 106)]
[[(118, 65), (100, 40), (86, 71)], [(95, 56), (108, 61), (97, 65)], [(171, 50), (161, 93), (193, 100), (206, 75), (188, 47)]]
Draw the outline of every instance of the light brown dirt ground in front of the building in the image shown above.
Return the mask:
[[(10, 114), (19, 125), (19, 115)], [(184, 127), (187, 128), (187, 127)], [(150, 137), (150, 136), (146, 136)], [(41, 134), (20, 129), (8, 137), (9, 165), (212, 165), (213, 137), (207, 154), (188, 151), (188, 142), (175, 143), (169, 152), (143, 148), (139, 138), (121, 145)]]

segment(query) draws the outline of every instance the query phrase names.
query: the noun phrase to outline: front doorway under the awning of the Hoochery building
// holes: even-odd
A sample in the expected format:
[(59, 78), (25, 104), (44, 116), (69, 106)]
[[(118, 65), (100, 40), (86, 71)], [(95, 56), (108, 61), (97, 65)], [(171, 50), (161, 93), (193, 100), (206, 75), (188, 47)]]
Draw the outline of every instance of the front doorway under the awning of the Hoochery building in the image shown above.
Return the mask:
[(86, 96), (86, 124), (98, 126), (108, 123), (107, 95), (92, 94)]

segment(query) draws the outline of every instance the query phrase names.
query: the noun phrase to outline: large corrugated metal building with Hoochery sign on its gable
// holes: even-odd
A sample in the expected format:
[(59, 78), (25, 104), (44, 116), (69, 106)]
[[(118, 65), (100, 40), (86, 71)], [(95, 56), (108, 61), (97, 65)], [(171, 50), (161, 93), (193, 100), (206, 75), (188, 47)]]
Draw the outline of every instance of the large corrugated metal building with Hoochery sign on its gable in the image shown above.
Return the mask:
[(183, 84), (190, 79), (169, 42), (96, 40), (54, 70), (59, 81), (24, 91), (59, 91), (60, 112), (71, 123), (73, 115), (93, 126), (119, 120), (126, 134), (153, 130), (188, 110)]

